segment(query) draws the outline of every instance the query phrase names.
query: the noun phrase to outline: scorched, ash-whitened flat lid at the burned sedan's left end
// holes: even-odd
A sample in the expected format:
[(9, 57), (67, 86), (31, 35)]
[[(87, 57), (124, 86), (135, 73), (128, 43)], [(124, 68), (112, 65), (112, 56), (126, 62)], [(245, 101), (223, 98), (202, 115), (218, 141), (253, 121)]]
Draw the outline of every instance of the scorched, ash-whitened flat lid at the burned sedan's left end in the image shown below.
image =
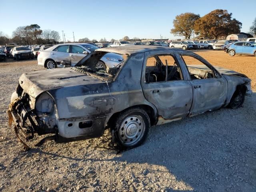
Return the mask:
[(105, 82), (98, 78), (78, 73), (71, 68), (38, 70), (22, 74), (19, 84), (33, 98), (47, 90)]

